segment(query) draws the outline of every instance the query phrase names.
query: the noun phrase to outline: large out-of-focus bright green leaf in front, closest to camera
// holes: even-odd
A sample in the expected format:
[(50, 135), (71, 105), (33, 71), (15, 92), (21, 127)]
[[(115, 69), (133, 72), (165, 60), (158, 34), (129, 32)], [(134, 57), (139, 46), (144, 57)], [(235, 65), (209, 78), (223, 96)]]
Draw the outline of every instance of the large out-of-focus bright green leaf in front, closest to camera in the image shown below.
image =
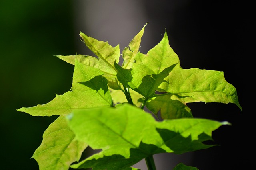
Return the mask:
[(153, 154), (182, 154), (212, 147), (202, 142), (212, 140), (212, 131), (228, 124), (191, 118), (157, 122), (129, 104), (76, 110), (67, 118), (76, 139), (92, 149), (102, 149), (71, 167), (94, 170), (121, 170)]

